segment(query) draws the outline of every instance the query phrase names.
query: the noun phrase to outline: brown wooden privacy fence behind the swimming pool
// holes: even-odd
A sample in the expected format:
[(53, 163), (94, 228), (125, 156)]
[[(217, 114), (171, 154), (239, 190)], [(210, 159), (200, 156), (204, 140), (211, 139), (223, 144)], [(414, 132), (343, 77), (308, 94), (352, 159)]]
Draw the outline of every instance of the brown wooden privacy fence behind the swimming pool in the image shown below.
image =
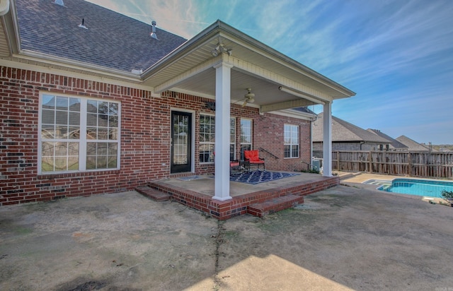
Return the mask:
[[(315, 158), (322, 156), (322, 151), (314, 151)], [(332, 169), (396, 176), (453, 178), (453, 152), (336, 150), (332, 152)]]

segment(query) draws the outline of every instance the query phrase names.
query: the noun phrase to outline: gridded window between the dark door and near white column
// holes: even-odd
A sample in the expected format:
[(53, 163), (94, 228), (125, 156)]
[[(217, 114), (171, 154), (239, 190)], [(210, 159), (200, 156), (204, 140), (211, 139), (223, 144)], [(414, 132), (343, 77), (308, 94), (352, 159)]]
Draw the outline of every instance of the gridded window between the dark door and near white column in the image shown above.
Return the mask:
[(200, 114), (200, 162), (214, 162), (215, 117)]

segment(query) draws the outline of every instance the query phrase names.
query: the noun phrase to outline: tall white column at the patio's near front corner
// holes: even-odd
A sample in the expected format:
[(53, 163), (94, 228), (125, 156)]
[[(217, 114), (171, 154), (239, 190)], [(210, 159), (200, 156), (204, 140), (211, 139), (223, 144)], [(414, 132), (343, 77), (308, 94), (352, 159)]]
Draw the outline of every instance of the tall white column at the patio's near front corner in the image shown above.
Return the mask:
[(229, 119), (231, 100), (231, 65), (221, 63), (215, 70), (215, 164), (214, 199), (229, 196)]

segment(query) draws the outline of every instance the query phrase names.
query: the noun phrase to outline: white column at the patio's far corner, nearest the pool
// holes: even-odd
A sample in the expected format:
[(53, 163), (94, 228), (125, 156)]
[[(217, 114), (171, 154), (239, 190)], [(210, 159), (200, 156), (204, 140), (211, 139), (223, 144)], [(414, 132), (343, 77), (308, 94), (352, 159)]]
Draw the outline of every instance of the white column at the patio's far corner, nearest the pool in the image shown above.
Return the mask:
[(332, 177), (332, 102), (323, 105), (323, 176)]

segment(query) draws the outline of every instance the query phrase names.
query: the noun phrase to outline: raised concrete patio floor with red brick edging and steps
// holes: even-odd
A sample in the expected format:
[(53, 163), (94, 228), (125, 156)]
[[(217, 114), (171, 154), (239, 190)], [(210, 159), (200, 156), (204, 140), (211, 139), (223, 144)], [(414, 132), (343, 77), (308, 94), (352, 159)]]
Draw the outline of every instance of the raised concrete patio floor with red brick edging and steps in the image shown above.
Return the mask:
[[(293, 173), (294, 174), (294, 173)], [(219, 220), (237, 215), (258, 217), (304, 203), (304, 196), (337, 186), (339, 177), (297, 173), (291, 177), (269, 182), (247, 184), (229, 182), (227, 201), (214, 198), (215, 179), (212, 175), (174, 175), (168, 179), (147, 182), (137, 191), (154, 200), (173, 200), (201, 210)]]

